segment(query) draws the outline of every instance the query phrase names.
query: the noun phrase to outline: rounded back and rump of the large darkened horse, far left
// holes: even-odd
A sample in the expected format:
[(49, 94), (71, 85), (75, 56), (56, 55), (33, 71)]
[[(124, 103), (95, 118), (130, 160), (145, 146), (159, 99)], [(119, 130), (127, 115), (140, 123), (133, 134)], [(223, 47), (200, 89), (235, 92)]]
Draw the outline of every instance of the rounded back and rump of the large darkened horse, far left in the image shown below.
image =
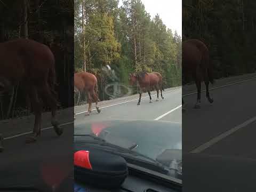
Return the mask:
[[(54, 55), (49, 47), (30, 39), (15, 39), (0, 43), (0, 76), (20, 81), (47, 79), (54, 68)], [(33, 79), (33, 80), (32, 80)]]

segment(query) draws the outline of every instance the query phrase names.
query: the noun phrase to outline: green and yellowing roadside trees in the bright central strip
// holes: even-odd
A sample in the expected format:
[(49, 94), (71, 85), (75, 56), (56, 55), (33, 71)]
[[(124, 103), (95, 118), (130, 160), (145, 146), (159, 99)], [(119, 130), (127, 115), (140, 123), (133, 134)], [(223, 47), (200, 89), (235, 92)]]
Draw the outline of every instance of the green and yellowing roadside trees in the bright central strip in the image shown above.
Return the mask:
[[(115, 70), (118, 81), (128, 85), (129, 74), (134, 71), (158, 71), (164, 86), (181, 84), (181, 37), (167, 29), (160, 15), (150, 19), (140, 0), (87, 0), (85, 14), (85, 54), (87, 71), (96, 74), (100, 92), (110, 83), (102, 67)], [(87, 2), (86, 1), (86, 2)], [(75, 67), (82, 69), (82, 3), (75, 7)], [(103, 93), (101, 99), (108, 99)]]

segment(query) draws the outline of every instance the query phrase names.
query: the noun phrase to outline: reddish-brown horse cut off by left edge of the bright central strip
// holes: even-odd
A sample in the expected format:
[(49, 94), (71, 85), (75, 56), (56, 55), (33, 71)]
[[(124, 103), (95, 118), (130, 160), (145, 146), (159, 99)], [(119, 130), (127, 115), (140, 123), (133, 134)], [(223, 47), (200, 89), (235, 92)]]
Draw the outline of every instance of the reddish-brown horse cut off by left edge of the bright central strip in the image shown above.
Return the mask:
[(81, 92), (87, 93), (87, 102), (89, 103), (89, 108), (86, 115), (89, 115), (92, 111), (92, 101), (96, 103), (96, 109), (98, 113), (100, 113), (100, 109), (98, 107), (98, 81), (95, 75), (84, 71), (75, 73), (74, 93), (78, 93), (80, 95)]

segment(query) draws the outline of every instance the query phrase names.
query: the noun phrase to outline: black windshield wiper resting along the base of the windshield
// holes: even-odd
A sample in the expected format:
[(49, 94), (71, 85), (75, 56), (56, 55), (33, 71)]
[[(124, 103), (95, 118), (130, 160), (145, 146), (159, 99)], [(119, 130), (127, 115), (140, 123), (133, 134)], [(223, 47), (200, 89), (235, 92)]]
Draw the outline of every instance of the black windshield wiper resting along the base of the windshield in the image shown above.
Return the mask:
[[(74, 136), (78, 136), (78, 137), (90, 137), (92, 138), (93, 140), (87, 140), (87, 141), (78, 141), (79, 143), (93, 143), (95, 145), (100, 145), (100, 146), (105, 146), (105, 147), (109, 147), (110, 149), (106, 149), (106, 148), (103, 148), (104, 150), (108, 151), (109, 153), (114, 153), (114, 154), (121, 154), (121, 155), (124, 155), (126, 156), (125, 154), (129, 154), (130, 156), (127, 157), (127, 158), (130, 158), (132, 157), (132, 160), (133, 161), (138, 161), (138, 158), (134, 158), (134, 156), (136, 157), (142, 157), (142, 158), (145, 158), (149, 161), (151, 161), (151, 163), (153, 163), (154, 165), (156, 165), (157, 167), (161, 167), (162, 169), (166, 170), (165, 166), (162, 164), (162, 163), (159, 163), (158, 161), (156, 161), (155, 159), (153, 158), (150, 158), (146, 155), (143, 155), (143, 154), (140, 154), (136, 151), (133, 151), (132, 149), (127, 149), (127, 148), (123, 148), (123, 147), (120, 147), (120, 146), (117, 146), (117, 145), (114, 145), (112, 143), (109, 143), (107, 142), (106, 140), (102, 139), (102, 138), (99, 138), (93, 134), (74, 134)], [(90, 146), (92, 147), (92, 146)], [(102, 149), (102, 148), (100, 148)], [(132, 155), (132, 156), (131, 156)], [(142, 159), (140, 159), (140, 161), (142, 161)], [(150, 163), (148, 161), (143, 161), (143, 163)]]

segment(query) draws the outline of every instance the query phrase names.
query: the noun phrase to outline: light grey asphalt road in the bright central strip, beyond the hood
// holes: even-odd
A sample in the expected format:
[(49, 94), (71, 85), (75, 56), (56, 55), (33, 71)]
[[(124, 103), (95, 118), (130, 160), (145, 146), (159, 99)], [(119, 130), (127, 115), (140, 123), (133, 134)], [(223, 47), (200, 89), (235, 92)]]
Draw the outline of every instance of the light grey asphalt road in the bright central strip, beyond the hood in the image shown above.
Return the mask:
[[(144, 97), (147, 97), (144, 94)], [(135, 99), (134, 99), (135, 97)], [(181, 88), (168, 90), (163, 92), (164, 99), (159, 97), (156, 100), (156, 95), (152, 96), (152, 103), (149, 103), (149, 97), (141, 99), (140, 106), (137, 106), (139, 94), (134, 95), (133, 99), (125, 102), (113, 102), (110, 105), (101, 108), (101, 113), (98, 114), (93, 110), (90, 116), (85, 116), (87, 107), (83, 111), (76, 112), (75, 123), (99, 122), (111, 119), (139, 119), (139, 120), (153, 120), (172, 121), (181, 123)], [(114, 105), (114, 106), (113, 106)], [(95, 104), (93, 104), (95, 108)]]

